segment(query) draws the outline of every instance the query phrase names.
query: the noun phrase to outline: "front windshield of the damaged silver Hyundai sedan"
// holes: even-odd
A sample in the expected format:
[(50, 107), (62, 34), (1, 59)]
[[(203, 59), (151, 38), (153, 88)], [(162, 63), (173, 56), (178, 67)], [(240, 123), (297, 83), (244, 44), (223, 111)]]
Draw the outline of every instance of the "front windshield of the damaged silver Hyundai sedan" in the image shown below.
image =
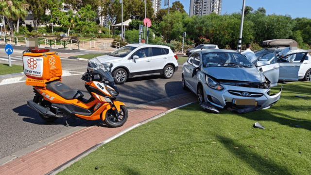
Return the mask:
[(202, 55), (203, 67), (252, 68), (254, 65), (241, 53), (213, 52)]

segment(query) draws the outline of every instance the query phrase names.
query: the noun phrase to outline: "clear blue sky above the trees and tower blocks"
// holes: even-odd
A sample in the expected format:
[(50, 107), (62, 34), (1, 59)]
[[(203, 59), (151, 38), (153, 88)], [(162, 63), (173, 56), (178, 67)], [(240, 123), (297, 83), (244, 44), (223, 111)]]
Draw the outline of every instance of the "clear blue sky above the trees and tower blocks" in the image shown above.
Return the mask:
[[(170, 0), (170, 6), (176, 0)], [(189, 14), (190, 0), (179, 0), (185, 11)], [(161, 2), (161, 8), (164, 7), (164, 0)], [(223, 0), (222, 14), (231, 14), (240, 12), (242, 9), (243, 0)], [(266, 9), (267, 14), (271, 15), (290, 15), (292, 18), (311, 18), (311, 0), (245, 0), (245, 5), (251, 6), (254, 10), (258, 7)]]

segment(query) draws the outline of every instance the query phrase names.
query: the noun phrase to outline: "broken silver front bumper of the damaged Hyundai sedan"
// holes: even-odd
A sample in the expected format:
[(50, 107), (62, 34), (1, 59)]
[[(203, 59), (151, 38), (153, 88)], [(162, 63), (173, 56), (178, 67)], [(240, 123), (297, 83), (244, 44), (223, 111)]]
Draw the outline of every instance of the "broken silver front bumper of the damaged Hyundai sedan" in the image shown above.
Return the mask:
[[(206, 102), (210, 102), (212, 105), (216, 106), (217, 108), (223, 109), (225, 106), (230, 107), (233, 106), (239, 113), (246, 113), (254, 110), (269, 108), (270, 106), (276, 104), (279, 100), (282, 92), (282, 88), (277, 94), (270, 94), (270, 89), (263, 89), (263, 88), (245, 88), (245, 87), (238, 87), (238, 86), (230, 86), (230, 85), (223, 85), (223, 90), (215, 90), (209, 88), (207, 84), (204, 84), (204, 98)], [(249, 96), (245, 97), (242, 95), (243, 92), (249, 93)], [(249, 100), (252, 99), (256, 101), (256, 105), (235, 105), (233, 100), (236, 99), (245, 99)], [(247, 110), (245, 110), (247, 109)], [(246, 111), (246, 112), (242, 112)]]

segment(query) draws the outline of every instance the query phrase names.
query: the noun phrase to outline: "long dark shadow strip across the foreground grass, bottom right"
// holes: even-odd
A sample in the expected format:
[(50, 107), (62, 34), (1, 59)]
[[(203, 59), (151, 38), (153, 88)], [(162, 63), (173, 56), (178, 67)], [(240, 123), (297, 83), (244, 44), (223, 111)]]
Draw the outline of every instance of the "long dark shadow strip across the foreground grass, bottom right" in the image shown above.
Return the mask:
[[(249, 166), (252, 167), (259, 174), (266, 175), (270, 172), (275, 172), (281, 175), (292, 175), (292, 173), (286, 170), (286, 168), (277, 165), (272, 160), (269, 160), (266, 157), (260, 156), (255, 151), (251, 151), (252, 148), (248, 148), (245, 145), (236, 143), (234, 140), (231, 140), (229, 138), (218, 135), (216, 135), (215, 137), (219, 139), (221, 143), (223, 143), (228, 151), (233, 153), (236, 157), (240, 158), (243, 162), (248, 163)], [(238, 147), (238, 149), (234, 147)]]

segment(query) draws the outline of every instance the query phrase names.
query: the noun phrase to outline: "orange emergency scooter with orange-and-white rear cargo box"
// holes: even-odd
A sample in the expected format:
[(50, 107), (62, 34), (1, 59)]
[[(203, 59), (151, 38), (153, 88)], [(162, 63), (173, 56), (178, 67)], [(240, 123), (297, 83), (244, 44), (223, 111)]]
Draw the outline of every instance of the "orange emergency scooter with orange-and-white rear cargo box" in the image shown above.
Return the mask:
[[(29, 100), (27, 105), (38, 112), (43, 120), (54, 122), (60, 117), (66, 117), (67, 126), (69, 118), (102, 120), (111, 127), (119, 127), (126, 122), (128, 111), (123, 103), (116, 100), (120, 95), (110, 72), (112, 65), (108, 71), (108, 68), (97, 58), (89, 60), (87, 72), (82, 79), (86, 81), (85, 87), (91, 97), (85, 99), (80, 90), (69, 88), (61, 83), (61, 76), (57, 76), (59, 70), (56, 70), (60, 66), (61, 71), (57, 53), (44, 53), (40, 57), (41, 55), (42, 53), (39, 52), (24, 53), (23, 66), (25, 75), (30, 77), (27, 78), (26, 85), (34, 86), (35, 90), (34, 100)], [(40, 72), (40, 69), (35, 71), (40, 67), (40, 62), (48, 65), (48, 68), (41, 65), (43, 67), (41, 70), (50, 71), (49, 79), (42, 78), (47, 74)]]

